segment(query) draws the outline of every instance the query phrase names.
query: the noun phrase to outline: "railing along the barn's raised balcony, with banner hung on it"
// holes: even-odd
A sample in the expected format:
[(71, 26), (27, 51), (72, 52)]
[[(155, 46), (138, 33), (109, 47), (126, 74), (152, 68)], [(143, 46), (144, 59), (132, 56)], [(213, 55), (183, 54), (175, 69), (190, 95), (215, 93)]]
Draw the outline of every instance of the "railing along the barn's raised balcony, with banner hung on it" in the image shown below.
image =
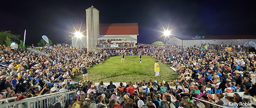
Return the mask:
[(97, 48), (134, 48), (135, 44), (97, 44)]

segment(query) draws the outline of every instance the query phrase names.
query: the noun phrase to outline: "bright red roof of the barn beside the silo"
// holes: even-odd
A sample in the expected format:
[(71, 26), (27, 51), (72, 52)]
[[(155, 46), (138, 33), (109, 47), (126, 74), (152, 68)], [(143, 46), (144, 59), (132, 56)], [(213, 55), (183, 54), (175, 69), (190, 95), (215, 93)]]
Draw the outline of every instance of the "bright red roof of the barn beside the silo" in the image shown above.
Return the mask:
[(139, 34), (138, 23), (99, 24), (99, 35)]

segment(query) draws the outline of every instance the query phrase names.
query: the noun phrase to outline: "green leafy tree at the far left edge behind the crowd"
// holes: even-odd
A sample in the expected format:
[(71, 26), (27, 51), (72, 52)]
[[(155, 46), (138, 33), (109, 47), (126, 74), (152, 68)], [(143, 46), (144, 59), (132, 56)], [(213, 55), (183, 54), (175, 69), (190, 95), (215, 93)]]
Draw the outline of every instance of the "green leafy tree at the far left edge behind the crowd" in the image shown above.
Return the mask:
[[(7, 39), (7, 37), (12, 41), (14, 41), (14, 40), (20, 40), (19, 38), (20, 38), (20, 35), (14, 35), (14, 34), (12, 34), (11, 33), (11, 31), (0, 31), (0, 44), (6, 44), (6, 45), (8, 45), (7, 43), (6, 43), (6, 39)], [(10, 40), (8, 40), (8, 42), (10, 41)], [(10, 45), (11, 45), (11, 43), (10, 43)]]

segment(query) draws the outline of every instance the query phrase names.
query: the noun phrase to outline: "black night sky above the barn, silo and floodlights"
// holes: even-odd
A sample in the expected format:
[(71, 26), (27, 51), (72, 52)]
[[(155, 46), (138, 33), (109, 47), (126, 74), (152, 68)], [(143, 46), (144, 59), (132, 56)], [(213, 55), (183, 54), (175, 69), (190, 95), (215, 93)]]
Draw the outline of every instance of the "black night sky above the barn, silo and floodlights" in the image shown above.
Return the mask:
[(85, 22), (85, 10), (92, 5), (100, 24), (138, 23), (138, 43), (164, 40), (155, 40), (163, 34), (158, 19), (165, 28), (170, 21), (169, 30), (180, 25), (172, 31), (177, 36), (256, 35), (256, 0), (2, 0), (0, 30), (23, 40), (26, 29), (29, 45), (42, 35), (63, 43), (70, 34), (64, 31), (72, 30), (71, 22)]

